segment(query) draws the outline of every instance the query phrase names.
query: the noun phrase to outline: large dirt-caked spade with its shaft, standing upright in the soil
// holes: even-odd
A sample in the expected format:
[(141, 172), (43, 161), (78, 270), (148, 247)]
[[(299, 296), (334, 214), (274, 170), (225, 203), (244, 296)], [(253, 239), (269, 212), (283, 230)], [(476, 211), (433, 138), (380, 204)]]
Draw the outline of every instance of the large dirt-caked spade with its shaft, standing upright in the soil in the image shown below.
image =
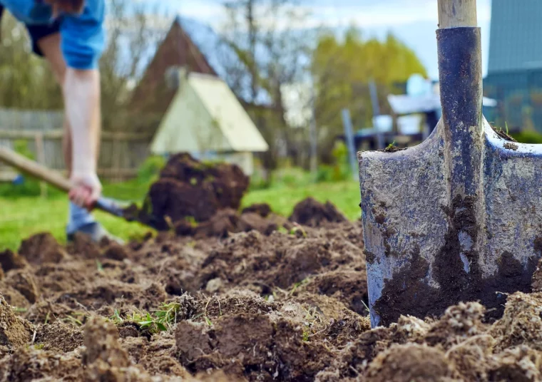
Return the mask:
[(528, 291), (542, 256), (542, 145), (481, 113), (476, 0), (439, 0), (442, 118), (423, 143), (358, 153), (372, 326)]

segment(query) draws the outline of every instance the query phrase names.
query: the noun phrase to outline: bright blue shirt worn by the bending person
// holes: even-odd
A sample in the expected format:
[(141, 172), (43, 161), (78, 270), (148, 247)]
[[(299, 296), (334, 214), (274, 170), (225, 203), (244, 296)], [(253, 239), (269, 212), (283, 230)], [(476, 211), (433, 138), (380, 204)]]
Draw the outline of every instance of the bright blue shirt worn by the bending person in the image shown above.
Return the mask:
[[(52, 9), (43, 0), (0, 0), (24, 24), (53, 22)], [(105, 46), (105, 0), (86, 0), (81, 14), (59, 16), (61, 50), (66, 64), (76, 69), (95, 69)]]

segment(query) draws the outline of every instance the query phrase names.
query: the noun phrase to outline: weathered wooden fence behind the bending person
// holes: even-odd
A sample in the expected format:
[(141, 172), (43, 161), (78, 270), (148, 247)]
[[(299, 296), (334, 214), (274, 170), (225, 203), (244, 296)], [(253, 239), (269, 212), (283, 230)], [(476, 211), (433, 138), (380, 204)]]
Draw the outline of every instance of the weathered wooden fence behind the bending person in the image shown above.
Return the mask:
[[(34, 160), (53, 170), (64, 171), (63, 130), (2, 130), (0, 145), (14, 149), (19, 141)], [(152, 137), (146, 133), (101, 133), (98, 175), (111, 182), (128, 180), (137, 175), (138, 167), (149, 155)], [(0, 180), (12, 180), (16, 171), (0, 163)]]

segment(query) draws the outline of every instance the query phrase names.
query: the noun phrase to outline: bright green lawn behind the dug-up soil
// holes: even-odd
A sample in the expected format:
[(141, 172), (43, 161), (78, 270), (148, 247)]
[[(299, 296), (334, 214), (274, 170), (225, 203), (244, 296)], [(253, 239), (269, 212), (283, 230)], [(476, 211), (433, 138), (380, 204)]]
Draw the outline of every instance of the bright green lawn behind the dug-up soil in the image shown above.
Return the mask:
[[(135, 182), (104, 187), (104, 195), (119, 200), (142, 200), (148, 185)], [(359, 185), (356, 182), (317, 183), (303, 187), (275, 187), (249, 192), (243, 206), (267, 202), (272, 210), (281, 215), (290, 215), (293, 207), (305, 197), (333, 202), (349, 219), (359, 217)], [(65, 224), (68, 203), (61, 195), (40, 197), (0, 197), (0, 250), (17, 249), (21, 240), (37, 232), (51, 232), (60, 242), (65, 241)], [(123, 239), (141, 237), (149, 231), (137, 223), (96, 212), (96, 217), (113, 234)]]

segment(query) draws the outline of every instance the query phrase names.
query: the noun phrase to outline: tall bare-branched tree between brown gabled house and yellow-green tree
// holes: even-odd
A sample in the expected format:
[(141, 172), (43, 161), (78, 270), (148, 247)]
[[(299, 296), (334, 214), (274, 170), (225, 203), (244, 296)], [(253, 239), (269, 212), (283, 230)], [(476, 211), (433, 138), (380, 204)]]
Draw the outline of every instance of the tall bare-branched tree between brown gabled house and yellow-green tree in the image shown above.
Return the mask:
[(225, 80), (270, 145), (262, 155), (267, 170), (277, 166), (281, 150), (294, 147), (282, 90), (309, 73), (312, 32), (303, 28), (307, 14), (297, 5), (292, 0), (223, 2), (227, 22), (220, 43), (233, 52), (222, 60)]

